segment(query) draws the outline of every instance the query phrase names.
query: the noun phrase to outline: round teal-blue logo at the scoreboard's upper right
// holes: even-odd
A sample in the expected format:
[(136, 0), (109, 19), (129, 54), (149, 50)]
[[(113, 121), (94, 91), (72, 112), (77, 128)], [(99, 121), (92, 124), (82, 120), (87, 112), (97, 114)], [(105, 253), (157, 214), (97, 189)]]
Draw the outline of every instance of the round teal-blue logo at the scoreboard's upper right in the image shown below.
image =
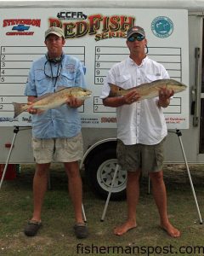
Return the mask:
[(151, 30), (158, 38), (167, 38), (173, 32), (173, 21), (167, 17), (156, 17), (151, 22)]

